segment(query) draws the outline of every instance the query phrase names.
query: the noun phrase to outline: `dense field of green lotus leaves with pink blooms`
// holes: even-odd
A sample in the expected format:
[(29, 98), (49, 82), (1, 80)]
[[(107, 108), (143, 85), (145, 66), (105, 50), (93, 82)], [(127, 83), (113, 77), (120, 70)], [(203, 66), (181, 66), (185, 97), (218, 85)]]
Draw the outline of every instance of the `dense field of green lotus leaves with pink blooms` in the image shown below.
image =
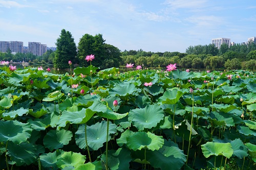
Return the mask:
[(253, 72), (69, 64), (0, 69), (1, 169), (256, 167)]

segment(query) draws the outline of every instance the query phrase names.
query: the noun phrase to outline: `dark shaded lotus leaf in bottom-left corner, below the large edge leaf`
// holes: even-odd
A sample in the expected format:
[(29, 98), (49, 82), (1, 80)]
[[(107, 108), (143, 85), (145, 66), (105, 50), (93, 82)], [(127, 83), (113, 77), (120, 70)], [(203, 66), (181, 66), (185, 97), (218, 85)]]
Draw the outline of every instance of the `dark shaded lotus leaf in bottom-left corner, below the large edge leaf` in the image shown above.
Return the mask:
[(7, 155), (11, 157), (12, 161), (16, 162), (17, 166), (30, 165), (36, 162), (36, 148), (31, 143), (22, 142), (17, 144), (10, 141), (8, 142), (7, 149)]

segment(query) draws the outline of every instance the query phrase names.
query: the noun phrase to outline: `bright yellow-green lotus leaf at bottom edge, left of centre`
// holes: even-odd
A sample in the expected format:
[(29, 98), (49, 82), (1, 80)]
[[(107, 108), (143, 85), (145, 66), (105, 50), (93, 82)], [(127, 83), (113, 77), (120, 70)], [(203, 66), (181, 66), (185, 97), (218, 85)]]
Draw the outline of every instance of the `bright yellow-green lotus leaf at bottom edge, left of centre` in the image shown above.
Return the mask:
[(86, 161), (86, 156), (75, 153), (75, 152), (65, 152), (57, 160), (56, 164), (59, 168), (63, 169), (66, 166), (78, 167), (81, 164), (84, 164)]

